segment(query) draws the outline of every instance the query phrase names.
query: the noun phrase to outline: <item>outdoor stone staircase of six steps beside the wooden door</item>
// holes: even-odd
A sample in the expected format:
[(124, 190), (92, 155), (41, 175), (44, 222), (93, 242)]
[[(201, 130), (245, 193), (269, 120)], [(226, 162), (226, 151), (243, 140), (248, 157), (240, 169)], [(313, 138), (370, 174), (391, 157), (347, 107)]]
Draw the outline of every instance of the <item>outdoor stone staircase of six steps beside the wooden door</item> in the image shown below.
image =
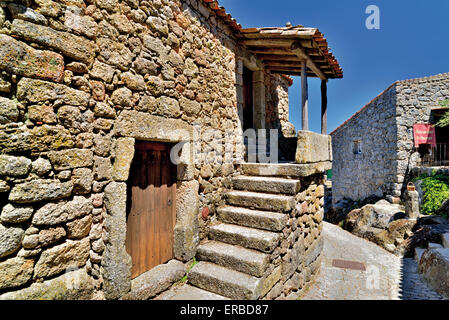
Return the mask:
[[(246, 168), (251, 166), (258, 165)], [(266, 293), (270, 254), (281, 240), (300, 182), (260, 175), (243, 175), (232, 182), (227, 205), (218, 209), (218, 224), (209, 228), (209, 239), (199, 246), (199, 263), (188, 279), (193, 286), (227, 298), (256, 300)]]

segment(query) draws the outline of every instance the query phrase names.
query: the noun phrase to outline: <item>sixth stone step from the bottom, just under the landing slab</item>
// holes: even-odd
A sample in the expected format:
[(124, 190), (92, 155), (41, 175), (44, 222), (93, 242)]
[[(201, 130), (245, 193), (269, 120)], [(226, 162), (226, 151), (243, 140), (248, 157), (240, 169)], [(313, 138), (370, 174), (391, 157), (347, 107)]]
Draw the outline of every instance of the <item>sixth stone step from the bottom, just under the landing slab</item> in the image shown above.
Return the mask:
[(236, 190), (281, 193), (289, 195), (295, 195), (299, 192), (299, 188), (301, 187), (299, 180), (255, 176), (235, 177), (232, 179), (232, 185)]

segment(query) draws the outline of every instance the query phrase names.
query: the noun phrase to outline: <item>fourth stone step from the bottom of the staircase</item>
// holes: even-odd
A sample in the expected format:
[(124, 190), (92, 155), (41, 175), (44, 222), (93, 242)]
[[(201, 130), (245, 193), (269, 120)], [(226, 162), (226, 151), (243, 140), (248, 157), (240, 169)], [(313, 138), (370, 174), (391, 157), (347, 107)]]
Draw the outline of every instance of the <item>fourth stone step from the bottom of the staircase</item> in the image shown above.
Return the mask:
[(288, 222), (288, 215), (284, 213), (229, 206), (219, 208), (217, 217), (222, 222), (268, 231), (282, 231)]

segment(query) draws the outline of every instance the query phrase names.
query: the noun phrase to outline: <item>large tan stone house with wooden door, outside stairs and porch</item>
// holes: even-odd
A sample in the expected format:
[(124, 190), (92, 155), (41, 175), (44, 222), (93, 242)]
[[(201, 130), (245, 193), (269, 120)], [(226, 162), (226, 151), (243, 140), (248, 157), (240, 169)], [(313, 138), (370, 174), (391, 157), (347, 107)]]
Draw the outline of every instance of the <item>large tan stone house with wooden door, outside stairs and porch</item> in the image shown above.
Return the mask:
[[(342, 77), (317, 29), (242, 29), (213, 0), (0, 2), (0, 299), (168, 298), (194, 258), (196, 298), (298, 297), (331, 152), (288, 122), (288, 75), (305, 115), (307, 77)], [(246, 129), (290, 163), (244, 161)]]

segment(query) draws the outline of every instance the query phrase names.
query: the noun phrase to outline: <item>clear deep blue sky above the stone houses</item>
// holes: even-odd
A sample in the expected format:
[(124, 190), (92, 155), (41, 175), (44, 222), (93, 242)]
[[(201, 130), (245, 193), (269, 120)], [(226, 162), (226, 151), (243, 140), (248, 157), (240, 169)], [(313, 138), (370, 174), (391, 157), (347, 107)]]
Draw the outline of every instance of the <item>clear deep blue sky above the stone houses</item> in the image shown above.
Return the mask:
[[(318, 28), (343, 68), (328, 83), (331, 132), (396, 80), (449, 72), (447, 0), (221, 0), (244, 27)], [(368, 5), (380, 9), (380, 30), (368, 30)], [(301, 81), (290, 87), (290, 121), (301, 129)], [(309, 80), (309, 126), (320, 132), (320, 80)]]

